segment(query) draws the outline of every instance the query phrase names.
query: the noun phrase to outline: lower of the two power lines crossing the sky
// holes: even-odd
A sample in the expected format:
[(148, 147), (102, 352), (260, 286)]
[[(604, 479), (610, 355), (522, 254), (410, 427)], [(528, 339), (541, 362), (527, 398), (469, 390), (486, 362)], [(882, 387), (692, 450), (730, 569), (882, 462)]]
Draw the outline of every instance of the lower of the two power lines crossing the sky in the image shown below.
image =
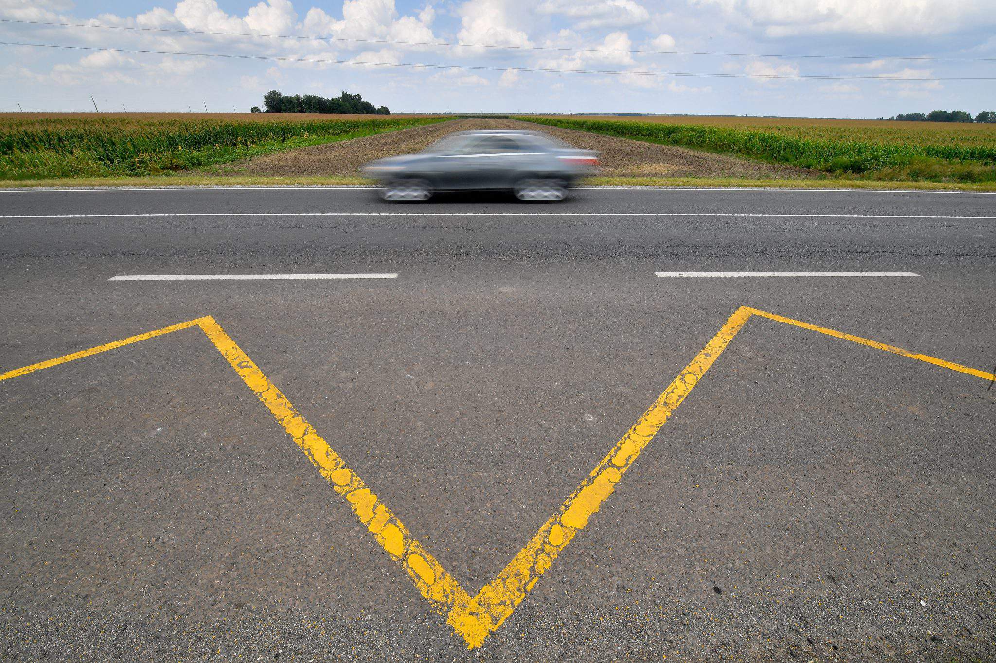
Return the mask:
[(73, 49), (76, 51), (112, 51), (115, 53), (140, 53), (159, 56), (190, 56), (197, 58), (235, 58), (238, 60), (272, 60), (277, 62), (308, 63), (312, 65), (367, 65), (373, 67), (410, 67), (416, 69), (459, 69), (479, 72), (525, 72), (541, 74), (601, 74), (613, 76), (652, 76), (652, 77), (695, 77), (707, 79), (814, 79), (821, 81), (996, 81), (996, 78), (966, 77), (902, 77), (902, 76), (817, 76), (789, 74), (705, 74), (701, 72), (645, 72), (622, 70), (562, 70), (540, 67), (485, 67), (482, 65), (423, 65), (420, 63), (376, 63), (361, 60), (312, 60), (308, 58), (282, 58), (278, 56), (248, 56), (234, 53), (192, 53), (189, 51), (149, 51), (140, 49), (116, 49), (99, 46), (68, 46), (65, 44), (29, 44), (27, 42), (0, 42), (3, 46), (29, 46), (45, 49)]

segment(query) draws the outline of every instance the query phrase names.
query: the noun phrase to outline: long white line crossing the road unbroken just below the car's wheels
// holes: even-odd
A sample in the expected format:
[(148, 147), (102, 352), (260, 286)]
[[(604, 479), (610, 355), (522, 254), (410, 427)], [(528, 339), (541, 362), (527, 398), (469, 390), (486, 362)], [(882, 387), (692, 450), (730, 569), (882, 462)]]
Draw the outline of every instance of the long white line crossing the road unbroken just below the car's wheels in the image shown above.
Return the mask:
[(31, 214), (0, 219), (140, 219), (167, 217), (746, 217), (794, 219), (983, 219), (941, 214), (777, 214), (756, 212), (155, 212), (140, 214)]

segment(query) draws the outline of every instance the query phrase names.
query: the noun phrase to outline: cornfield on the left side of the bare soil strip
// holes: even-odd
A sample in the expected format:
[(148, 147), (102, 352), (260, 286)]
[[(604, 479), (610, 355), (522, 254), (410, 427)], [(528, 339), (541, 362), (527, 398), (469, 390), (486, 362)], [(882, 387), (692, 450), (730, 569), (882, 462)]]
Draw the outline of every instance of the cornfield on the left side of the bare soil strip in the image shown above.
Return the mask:
[[(347, 119), (349, 118), (349, 119)], [(442, 121), (391, 115), (0, 114), (0, 179), (155, 175), (224, 163), (251, 148)]]

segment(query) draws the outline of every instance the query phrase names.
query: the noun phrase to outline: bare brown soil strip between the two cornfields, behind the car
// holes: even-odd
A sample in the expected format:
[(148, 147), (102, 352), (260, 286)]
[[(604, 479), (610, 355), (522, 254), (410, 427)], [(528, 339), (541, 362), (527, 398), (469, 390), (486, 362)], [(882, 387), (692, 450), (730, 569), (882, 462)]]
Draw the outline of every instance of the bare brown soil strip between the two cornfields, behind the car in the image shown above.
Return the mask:
[(609, 177), (793, 178), (811, 175), (779, 166), (683, 147), (655, 145), (599, 133), (540, 126), (512, 119), (468, 118), (416, 126), (326, 145), (278, 152), (226, 167), (224, 175), (356, 177), (373, 159), (408, 154), (453, 131), (517, 128), (547, 133), (575, 147), (601, 153), (602, 174)]

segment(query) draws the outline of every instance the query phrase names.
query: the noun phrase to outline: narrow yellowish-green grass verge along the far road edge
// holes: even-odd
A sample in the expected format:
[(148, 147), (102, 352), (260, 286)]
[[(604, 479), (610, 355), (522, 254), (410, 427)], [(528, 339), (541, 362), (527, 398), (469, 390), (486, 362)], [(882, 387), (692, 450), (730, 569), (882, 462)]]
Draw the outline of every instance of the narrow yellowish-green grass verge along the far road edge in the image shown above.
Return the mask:
[[(0, 189), (77, 187), (232, 187), (232, 186), (344, 186), (373, 185), (362, 177), (267, 177), (232, 175), (223, 179), (206, 175), (166, 175), (154, 177), (84, 177), (75, 179), (0, 180)], [(996, 192), (996, 182), (894, 182), (873, 180), (748, 180), (697, 177), (593, 177), (589, 186), (630, 187), (709, 187), (748, 189), (858, 189), (874, 191), (974, 191)]]

